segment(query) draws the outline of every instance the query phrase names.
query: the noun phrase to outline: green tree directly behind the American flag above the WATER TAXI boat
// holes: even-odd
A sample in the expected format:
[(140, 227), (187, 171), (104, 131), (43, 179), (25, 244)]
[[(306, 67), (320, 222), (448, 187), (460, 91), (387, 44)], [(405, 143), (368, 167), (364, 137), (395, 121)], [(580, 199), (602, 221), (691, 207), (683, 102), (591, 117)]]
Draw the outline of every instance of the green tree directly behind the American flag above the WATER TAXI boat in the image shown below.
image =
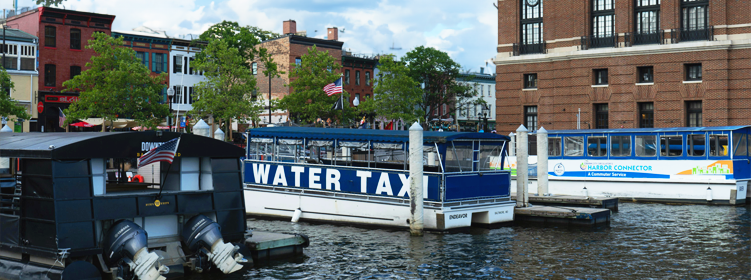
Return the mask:
[(317, 118), (340, 118), (342, 124), (353, 120), (357, 114), (347, 108), (349, 94), (346, 91), (342, 92), (344, 102), (347, 102), (342, 111), (332, 110), (341, 95), (327, 96), (323, 91), (323, 87), (341, 77), (342, 66), (336, 59), (328, 51), (319, 51), (316, 46), (312, 46), (301, 60), (300, 65), (290, 70), (292, 94), (282, 98), (279, 106), (289, 111), (291, 119), (305, 123), (312, 123)]

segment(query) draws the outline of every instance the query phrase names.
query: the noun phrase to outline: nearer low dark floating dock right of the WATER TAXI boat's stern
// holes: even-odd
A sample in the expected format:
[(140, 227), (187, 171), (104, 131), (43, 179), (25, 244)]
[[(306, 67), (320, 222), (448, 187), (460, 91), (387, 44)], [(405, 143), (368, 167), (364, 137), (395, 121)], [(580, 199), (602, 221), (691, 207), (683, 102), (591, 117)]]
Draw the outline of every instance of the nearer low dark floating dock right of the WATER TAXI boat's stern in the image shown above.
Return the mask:
[[(530, 201), (532, 197), (530, 197)], [(514, 221), (588, 226), (610, 222), (610, 210), (584, 207), (531, 206), (514, 209)]]

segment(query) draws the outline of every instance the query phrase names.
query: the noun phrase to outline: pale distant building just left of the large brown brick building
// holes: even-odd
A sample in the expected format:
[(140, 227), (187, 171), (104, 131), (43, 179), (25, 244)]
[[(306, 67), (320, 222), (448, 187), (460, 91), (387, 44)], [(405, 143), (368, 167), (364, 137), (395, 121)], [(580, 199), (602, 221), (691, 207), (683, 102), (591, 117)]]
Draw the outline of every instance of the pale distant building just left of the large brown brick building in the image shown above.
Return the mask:
[[(495, 129), (495, 74), (485, 73), (485, 69), (480, 68), (479, 73), (461, 73), (458, 83), (472, 87), (475, 93), (472, 98), (457, 100), (454, 105), (460, 130), (476, 132), (482, 128), (485, 132), (490, 132)], [(477, 102), (478, 100), (485, 104)], [(485, 121), (487, 127), (484, 126)]]

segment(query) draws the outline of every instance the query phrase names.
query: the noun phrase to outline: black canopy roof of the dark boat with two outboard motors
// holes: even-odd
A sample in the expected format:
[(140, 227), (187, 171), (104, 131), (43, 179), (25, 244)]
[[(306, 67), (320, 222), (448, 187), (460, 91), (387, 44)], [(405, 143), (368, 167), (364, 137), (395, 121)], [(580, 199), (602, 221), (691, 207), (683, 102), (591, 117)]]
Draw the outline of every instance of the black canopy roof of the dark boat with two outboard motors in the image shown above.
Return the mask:
[(39, 159), (134, 158), (181, 137), (181, 157), (240, 158), (245, 150), (212, 138), (175, 132), (0, 133), (0, 157)]

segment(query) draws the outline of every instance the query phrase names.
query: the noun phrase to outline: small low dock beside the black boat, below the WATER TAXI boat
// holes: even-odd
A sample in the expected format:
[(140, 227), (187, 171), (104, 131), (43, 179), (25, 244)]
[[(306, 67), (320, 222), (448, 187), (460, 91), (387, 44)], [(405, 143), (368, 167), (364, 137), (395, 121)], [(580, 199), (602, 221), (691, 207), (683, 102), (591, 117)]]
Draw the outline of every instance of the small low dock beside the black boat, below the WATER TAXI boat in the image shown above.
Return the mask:
[(302, 255), (303, 248), (308, 245), (310, 240), (302, 234), (253, 231), (253, 235), (245, 239), (245, 247), (254, 264), (268, 264), (273, 260)]

